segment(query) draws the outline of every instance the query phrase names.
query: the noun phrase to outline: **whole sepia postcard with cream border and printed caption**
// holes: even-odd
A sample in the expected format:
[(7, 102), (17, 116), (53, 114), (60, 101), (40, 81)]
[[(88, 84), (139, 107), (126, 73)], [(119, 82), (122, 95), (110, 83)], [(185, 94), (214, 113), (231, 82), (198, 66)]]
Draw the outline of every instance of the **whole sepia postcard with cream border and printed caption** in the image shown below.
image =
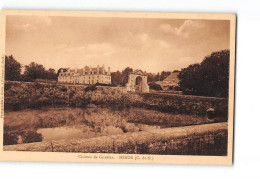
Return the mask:
[(2, 10), (0, 160), (231, 165), (234, 14)]

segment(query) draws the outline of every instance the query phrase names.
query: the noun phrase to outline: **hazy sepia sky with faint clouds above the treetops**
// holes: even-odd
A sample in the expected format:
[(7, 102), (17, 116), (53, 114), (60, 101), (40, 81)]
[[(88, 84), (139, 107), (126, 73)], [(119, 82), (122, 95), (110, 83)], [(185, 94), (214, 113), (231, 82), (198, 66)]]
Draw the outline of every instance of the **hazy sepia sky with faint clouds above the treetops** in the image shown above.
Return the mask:
[(6, 55), (46, 69), (181, 70), (229, 49), (229, 21), (7, 16)]

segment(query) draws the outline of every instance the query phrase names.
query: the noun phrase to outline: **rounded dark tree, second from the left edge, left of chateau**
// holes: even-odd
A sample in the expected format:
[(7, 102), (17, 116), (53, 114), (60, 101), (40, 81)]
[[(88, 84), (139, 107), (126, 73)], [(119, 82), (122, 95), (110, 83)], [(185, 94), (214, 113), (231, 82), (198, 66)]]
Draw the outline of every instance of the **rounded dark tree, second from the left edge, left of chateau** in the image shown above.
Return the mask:
[(29, 81), (34, 81), (37, 78), (46, 79), (46, 72), (43, 65), (31, 62), (25, 66), (24, 76)]

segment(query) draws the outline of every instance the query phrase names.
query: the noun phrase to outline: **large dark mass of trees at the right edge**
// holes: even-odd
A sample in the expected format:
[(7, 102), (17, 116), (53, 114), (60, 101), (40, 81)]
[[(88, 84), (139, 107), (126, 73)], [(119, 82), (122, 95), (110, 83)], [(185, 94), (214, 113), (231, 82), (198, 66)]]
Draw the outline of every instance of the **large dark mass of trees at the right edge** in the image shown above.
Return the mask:
[(179, 85), (184, 94), (228, 97), (229, 50), (213, 52), (200, 64), (181, 70)]

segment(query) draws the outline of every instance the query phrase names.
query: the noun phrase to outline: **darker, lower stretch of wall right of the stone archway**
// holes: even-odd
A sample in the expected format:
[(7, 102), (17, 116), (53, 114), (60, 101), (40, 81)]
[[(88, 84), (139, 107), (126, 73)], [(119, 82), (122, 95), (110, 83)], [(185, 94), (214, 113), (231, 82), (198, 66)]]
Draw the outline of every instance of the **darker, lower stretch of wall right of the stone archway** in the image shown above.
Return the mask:
[(153, 109), (164, 112), (206, 115), (213, 108), (217, 116), (227, 117), (228, 99), (179, 94), (145, 93), (142, 94), (144, 103)]

